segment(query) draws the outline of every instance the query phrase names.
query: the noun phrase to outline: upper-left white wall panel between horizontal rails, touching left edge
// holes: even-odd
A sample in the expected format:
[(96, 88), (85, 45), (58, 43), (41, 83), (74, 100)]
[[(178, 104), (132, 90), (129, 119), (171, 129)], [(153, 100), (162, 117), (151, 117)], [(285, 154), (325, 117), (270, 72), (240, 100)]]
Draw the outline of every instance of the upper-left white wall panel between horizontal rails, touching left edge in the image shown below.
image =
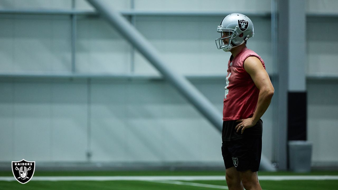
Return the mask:
[(0, 19), (2, 71), (70, 71), (70, 20), (58, 16)]

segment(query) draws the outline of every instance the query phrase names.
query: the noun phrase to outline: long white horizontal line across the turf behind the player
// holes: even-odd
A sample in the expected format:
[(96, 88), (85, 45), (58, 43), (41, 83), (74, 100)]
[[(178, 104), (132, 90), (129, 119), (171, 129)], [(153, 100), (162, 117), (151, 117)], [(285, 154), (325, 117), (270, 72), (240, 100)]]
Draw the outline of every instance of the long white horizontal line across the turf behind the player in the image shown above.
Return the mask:
[[(261, 175), (259, 180), (338, 180), (338, 175)], [(0, 177), (0, 181), (15, 181), (14, 176)], [(33, 176), (32, 181), (219, 181), (223, 175), (209, 176)]]

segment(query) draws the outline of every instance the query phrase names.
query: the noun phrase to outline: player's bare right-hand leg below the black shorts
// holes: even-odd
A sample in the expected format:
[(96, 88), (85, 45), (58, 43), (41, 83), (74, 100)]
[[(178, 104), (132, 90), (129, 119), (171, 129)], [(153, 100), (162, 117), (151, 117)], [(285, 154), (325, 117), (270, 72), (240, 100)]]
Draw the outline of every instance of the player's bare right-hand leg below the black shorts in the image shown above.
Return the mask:
[(258, 181), (257, 171), (256, 172), (253, 172), (251, 170), (240, 171), (239, 176), (246, 190), (262, 190), (262, 187)]

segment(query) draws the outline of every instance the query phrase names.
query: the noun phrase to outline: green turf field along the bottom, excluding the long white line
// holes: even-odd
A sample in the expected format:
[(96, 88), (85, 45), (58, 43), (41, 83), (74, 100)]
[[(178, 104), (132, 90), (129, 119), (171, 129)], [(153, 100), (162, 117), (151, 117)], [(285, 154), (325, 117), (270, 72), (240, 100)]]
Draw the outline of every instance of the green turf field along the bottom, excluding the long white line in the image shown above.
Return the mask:
[[(176, 190), (176, 189), (227, 189), (225, 180), (162, 180), (162, 181), (34, 181), (34, 177), (46, 176), (222, 176), (219, 171), (76, 171), (76, 172), (35, 172), (31, 181), (20, 184), (17, 181), (0, 181), (2, 189), (25, 190)], [(13, 177), (11, 172), (0, 172), (1, 177)], [(259, 176), (338, 176), (338, 171), (314, 171), (311, 173), (259, 172)], [(263, 190), (337, 190), (338, 180), (260, 180)]]

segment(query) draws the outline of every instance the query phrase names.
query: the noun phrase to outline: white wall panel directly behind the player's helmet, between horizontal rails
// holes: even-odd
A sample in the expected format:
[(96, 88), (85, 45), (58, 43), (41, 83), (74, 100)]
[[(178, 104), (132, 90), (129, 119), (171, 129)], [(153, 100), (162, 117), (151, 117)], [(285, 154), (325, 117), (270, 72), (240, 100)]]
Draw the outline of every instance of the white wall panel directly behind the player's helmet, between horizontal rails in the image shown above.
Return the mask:
[[(222, 17), (137, 17), (136, 27), (161, 53), (164, 61), (182, 74), (226, 74), (231, 53), (216, 48), (216, 32)], [(248, 48), (256, 51), (266, 62), (269, 73), (271, 63), (270, 20), (252, 18), (255, 36)], [(143, 56), (135, 57), (136, 73), (158, 73)]]

